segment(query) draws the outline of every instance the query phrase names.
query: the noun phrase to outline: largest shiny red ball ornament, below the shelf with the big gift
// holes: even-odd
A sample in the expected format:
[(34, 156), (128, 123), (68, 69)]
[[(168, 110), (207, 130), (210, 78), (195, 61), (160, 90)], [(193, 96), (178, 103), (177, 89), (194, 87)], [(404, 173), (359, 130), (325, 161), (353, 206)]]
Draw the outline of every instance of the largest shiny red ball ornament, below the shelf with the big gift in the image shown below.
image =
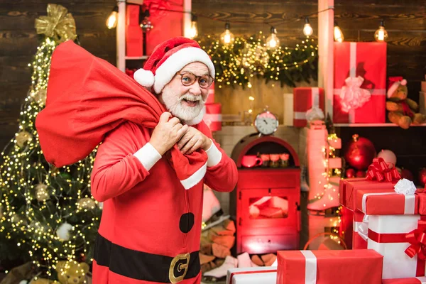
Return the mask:
[(367, 138), (352, 136), (353, 140), (346, 147), (344, 158), (356, 170), (366, 170), (376, 157), (376, 148)]

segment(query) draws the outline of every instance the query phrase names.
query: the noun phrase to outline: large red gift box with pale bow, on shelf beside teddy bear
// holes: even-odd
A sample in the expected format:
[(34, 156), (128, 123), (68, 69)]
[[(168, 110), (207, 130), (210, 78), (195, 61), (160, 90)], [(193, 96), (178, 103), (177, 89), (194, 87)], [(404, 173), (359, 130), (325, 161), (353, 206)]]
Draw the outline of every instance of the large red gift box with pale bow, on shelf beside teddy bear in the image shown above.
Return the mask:
[(386, 43), (334, 43), (333, 121), (386, 121)]

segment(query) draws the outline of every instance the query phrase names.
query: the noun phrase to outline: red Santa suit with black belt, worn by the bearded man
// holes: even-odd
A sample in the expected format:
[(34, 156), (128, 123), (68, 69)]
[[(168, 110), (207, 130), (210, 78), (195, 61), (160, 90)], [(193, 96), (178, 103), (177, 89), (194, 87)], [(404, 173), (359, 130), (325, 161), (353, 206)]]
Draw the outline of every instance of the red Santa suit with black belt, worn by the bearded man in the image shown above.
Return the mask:
[[(197, 129), (212, 138), (203, 121)], [(151, 133), (125, 122), (99, 146), (92, 195), (104, 202), (104, 209), (94, 252), (94, 284), (200, 283), (203, 182), (220, 192), (233, 190), (236, 165), (214, 142), (222, 155), (219, 162), (207, 166), (203, 180), (185, 190), (166, 155), (149, 171), (133, 155)]]

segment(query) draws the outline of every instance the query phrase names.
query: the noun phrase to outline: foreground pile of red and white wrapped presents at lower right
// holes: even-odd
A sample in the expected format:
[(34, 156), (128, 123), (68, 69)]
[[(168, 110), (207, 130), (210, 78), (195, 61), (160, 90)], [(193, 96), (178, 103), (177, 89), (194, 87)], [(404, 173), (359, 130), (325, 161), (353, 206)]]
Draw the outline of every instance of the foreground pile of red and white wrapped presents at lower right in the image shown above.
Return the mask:
[(382, 158), (339, 190), (353, 212), (352, 250), (278, 251), (277, 267), (230, 269), (227, 284), (426, 284), (425, 190)]

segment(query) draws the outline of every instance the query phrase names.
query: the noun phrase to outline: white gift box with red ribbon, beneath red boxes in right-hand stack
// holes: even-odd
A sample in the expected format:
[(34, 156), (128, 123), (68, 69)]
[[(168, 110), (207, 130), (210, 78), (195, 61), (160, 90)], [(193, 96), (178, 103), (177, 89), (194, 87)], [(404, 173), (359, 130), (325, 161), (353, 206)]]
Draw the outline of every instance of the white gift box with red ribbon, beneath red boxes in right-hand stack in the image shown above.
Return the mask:
[[(398, 237), (417, 229), (420, 215), (369, 215), (368, 216), (368, 249), (373, 249), (383, 256), (383, 279), (410, 278), (416, 276), (417, 254), (410, 258), (405, 250), (410, 243)], [(374, 239), (374, 240), (373, 240)], [(400, 239), (397, 242), (385, 239)], [(382, 241), (383, 240), (383, 241)], [(422, 273), (425, 268), (422, 268)], [(417, 275), (424, 276), (424, 275)]]

